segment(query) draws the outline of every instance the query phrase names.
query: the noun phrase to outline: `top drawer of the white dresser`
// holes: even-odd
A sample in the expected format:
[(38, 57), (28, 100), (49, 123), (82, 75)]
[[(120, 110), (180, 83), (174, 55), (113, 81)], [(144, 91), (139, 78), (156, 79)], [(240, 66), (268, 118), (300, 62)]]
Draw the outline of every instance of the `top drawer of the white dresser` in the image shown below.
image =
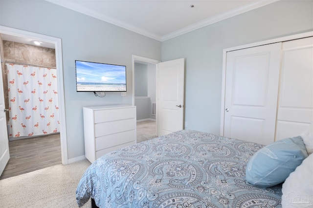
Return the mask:
[(94, 123), (108, 122), (120, 119), (135, 118), (135, 108), (118, 108), (94, 111)]

